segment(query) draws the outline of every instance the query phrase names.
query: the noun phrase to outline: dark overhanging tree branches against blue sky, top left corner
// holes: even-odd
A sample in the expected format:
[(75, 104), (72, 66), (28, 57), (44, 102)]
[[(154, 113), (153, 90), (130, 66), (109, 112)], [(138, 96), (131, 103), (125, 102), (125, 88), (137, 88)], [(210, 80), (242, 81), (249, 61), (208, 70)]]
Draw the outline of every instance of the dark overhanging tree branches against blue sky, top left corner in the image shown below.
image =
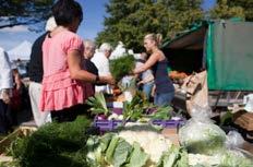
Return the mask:
[(0, 28), (29, 25), (32, 31), (41, 31), (39, 23), (50, 15), (53, 0), (0, 0)]

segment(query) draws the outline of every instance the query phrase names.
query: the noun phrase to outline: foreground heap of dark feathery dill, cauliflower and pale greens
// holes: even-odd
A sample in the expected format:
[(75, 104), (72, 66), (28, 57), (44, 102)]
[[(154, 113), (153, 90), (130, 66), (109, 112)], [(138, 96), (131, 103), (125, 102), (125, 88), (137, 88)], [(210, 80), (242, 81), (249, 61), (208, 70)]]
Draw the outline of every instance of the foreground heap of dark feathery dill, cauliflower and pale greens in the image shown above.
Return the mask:
[(88, 133), (88, 124), (85, 118), (48, 123), (31, 136), (19, 139), (10, 148), (17, 162), (15, 167), (251, 167), (253, 164), (238, 151), (193, 154), (173, 145), (146, 123), (126, 123), (104, 135)]

